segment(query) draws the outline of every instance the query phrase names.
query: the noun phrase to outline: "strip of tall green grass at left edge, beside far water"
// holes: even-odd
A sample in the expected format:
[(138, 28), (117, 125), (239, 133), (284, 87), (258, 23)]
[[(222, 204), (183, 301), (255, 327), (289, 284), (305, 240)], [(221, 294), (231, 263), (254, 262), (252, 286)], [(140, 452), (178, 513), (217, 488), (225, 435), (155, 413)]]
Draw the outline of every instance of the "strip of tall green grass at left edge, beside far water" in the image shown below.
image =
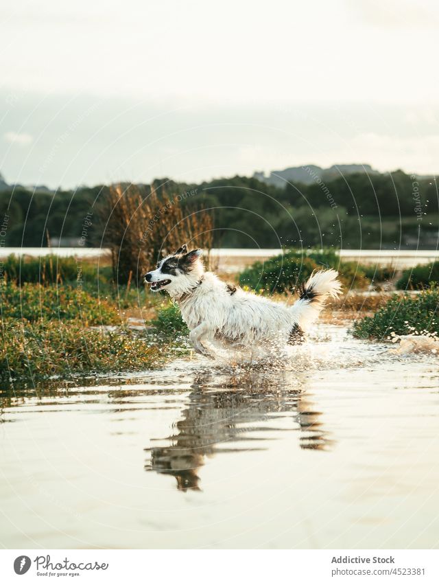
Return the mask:
[(78, 281), (97, 283), (111, 281), (110, 266), (99, 267), (78, 261), (74, 257), (58, 257), (45, 255), (43, 257), (17, 257), (8, 255), (3, 261), (3, 279), (16, 284), (63, 284)]

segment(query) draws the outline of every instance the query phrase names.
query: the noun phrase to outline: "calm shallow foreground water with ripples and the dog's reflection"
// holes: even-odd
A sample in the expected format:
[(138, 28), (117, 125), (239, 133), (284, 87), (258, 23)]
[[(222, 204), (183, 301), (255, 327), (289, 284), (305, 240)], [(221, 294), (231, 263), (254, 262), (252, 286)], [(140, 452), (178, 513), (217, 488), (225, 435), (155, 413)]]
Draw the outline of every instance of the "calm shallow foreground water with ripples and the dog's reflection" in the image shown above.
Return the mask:
[(437, 547), (438, 358), (388, 348), (2, 393), (0, 544)]

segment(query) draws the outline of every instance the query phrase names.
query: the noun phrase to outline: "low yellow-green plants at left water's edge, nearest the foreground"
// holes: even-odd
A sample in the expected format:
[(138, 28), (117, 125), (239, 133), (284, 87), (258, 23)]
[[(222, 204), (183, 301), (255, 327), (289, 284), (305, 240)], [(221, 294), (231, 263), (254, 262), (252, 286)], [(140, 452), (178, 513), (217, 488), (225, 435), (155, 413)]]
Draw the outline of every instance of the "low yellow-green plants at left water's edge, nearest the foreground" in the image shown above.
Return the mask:
[(129, 331), (100, 332), (76, 322), (31, 323), (3, 319), (0, 379), (38, 380), (90, 372), (156, 367), (163, 347), (147, 345)]

